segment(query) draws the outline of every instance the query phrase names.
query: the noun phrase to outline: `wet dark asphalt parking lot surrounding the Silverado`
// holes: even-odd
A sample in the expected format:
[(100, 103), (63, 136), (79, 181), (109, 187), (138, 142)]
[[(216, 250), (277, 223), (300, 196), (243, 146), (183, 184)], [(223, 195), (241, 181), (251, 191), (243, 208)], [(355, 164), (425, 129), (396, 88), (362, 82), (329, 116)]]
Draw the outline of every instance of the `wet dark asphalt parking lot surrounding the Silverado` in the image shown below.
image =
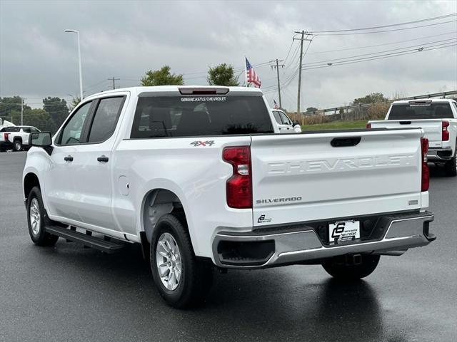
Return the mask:
[(206, 304), (166, 306), (139, 249), (36, 247), (21, 195), (26, 152), (0, 153), (0, 341), (457, 341), (457, 177), (431, 167), (438, 239), (381, 257), (356, 284), (321, 266), (216, 274)]

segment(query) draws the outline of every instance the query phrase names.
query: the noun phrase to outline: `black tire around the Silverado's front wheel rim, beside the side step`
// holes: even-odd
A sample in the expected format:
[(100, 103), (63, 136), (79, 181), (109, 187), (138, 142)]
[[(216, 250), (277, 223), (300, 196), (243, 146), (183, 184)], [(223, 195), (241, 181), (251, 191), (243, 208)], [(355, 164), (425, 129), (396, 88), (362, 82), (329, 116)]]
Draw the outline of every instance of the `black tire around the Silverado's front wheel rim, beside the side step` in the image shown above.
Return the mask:
[[(35, 202), (36, 201), (36, 202)], [(34, 204), (38, 207), (38, 211), (34, 209)], [(34, 225), (31, 218), (31, 211), (34, 212), (34, 217), (39, 215), (39, 222)], [(34, 187), (30, 191), (27, 198), (27, 223), (29, 225), (29, 234), (31, 241), (38, 246), (54, 246), (59, 237), (46, 233), (44, 227), (49, 224), (49, 217), (44, 209), (43, 199), (41, 199), (41, 191), (39, 187)]]

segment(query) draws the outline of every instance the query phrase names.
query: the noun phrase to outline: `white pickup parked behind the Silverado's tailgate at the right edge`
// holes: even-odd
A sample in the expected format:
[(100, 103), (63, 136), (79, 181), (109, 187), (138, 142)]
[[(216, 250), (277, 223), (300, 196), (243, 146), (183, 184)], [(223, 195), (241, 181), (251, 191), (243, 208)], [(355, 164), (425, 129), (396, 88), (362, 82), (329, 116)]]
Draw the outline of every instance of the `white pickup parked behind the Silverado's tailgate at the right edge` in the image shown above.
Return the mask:
[(444, 165), (457, 176), (457, 102), (452, 99), (395, 101), (385, 120), (368, 121), (367, 128), (422, 128), (428, 138), (428, 162)]

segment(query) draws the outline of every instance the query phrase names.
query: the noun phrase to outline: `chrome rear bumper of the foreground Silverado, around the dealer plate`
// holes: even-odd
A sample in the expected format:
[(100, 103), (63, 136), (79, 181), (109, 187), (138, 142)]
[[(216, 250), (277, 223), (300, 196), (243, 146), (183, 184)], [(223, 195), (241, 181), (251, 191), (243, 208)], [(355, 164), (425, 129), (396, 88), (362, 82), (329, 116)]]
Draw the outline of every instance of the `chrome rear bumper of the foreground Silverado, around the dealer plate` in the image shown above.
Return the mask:
[[(396, 215), (391, 219), (382, 239), (378, 241), (351, 241), (341, 244), (324, 246), (318, 235), (312, 229), (293, 232), (273, 232), (271, 234), (258, 234), (257, 232), (236, 233), (220, 232), (216, 234), (213, 242), (214, 262), (217, 266), (237, 269), (258, 269), (283, 264), (300, 264), (305, 261), (337, 257), (338, 255), (353, 253), (383, 254), (397, 252), (402, 254), (406, 249), (426, 246), (436, 237), (428, 232), (428, 224), (433, 221), (433, 213), (418, 213), (401, 217)], [(218, 252), (221, 242), (274, 242), (274, 250), (264, 261), (243, 264), (241, 261), (224, 260)], [(395, 253), (391, 253), (395, 254)]]

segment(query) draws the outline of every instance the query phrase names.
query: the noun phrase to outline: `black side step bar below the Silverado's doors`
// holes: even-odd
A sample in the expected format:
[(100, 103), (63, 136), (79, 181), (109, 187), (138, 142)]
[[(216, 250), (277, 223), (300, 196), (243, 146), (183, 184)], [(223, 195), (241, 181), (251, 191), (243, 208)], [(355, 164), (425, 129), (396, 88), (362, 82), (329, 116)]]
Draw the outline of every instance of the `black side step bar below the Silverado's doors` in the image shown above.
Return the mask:
[(124, 248), (124, 243), (121, 241), (114, 242), (115, 239), (106, 241), (105, 239), (92, 237), (91, 235), (76, 232), (76, 230), (71, 230), (64, 227), (48, 226), (45, 229), (49, 234), (57, 235), (58, 237), (63, 237), (68, 241), (78, 242), (79, 244), (83, 244), (86, 247), (99, 249), (99, 251), (109, 254), (119, 252)]

